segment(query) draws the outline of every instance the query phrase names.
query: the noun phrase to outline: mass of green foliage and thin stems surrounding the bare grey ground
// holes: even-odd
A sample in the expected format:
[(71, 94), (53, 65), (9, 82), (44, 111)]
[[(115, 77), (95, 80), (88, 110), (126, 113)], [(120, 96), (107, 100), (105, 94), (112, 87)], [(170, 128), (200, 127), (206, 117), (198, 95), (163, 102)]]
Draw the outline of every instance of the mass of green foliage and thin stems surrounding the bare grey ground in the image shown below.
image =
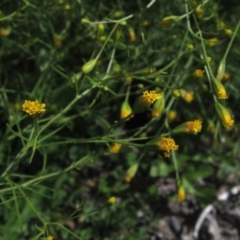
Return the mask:
[[(183, 186), (202, 205), (239, 179), (234, 1), (2, 0), (0, 10), (0, 239), (145, 240), (138, 213), (162, 217), (159, 178), (175, 179), (167, 201)], [(164, 94), (154, 117), (142, 95), (153, 90)], [(46, 111), (29, 116), (25, 100)], [(131, 112), (136, 101), (143, 112)]]

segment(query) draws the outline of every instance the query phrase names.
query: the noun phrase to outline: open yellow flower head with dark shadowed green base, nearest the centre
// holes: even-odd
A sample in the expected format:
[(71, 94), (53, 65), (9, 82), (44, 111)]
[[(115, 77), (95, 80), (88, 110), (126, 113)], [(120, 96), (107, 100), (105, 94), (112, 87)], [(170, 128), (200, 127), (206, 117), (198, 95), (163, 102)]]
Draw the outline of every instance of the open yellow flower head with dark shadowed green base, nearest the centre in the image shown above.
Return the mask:
[(153, 104), (157, 99), (161, 98), (161, 94), (156, 91), (145, 91), (142, 96), (140, 96), (134, 103), (133, 112), (143, 112), (147, 110), (151, 104)]

